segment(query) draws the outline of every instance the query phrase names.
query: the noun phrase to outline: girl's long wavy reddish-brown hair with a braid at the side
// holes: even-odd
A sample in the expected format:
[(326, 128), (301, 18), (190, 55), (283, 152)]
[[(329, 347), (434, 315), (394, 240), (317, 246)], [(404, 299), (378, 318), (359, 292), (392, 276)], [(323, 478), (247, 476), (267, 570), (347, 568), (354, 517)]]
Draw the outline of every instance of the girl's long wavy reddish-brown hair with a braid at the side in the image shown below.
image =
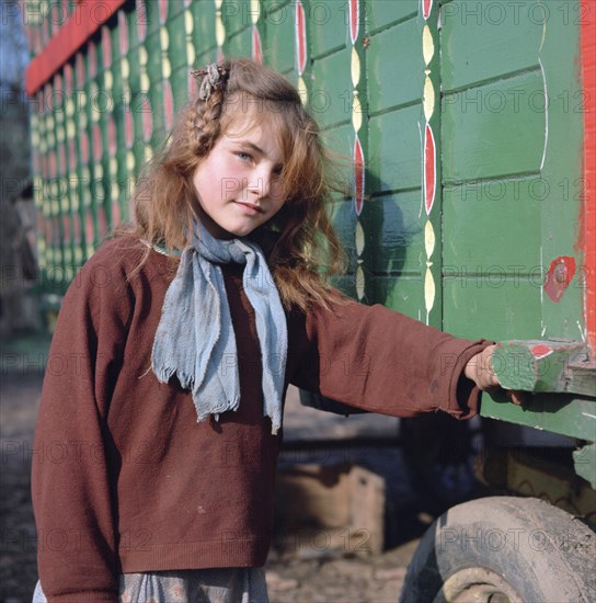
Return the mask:
[[(195, 94), (176, 118), (163, 148), (147, 164), (131, 198), (129, 234), (168, 250), (188, 244), (198, 219), (193, 177), (219, 136), (238, 117), (273, 124), (284, 153), (282, 180), (286, 202), (267, 223), (249, 235), (264, 250), (284, 306), (306, 310), (335, 298), (329, 276), (345, 263), (328, 215), (333, 192), (346, 194), (339, 171), (320, 139), (319, 127), (294, 86), (279, 73), (250, 59), (225, 60), (225, 75), (210, 95)], [(204, 95), (203, 95), (204, 96)], [(150, 252), (147, 248), (145, 261)]]

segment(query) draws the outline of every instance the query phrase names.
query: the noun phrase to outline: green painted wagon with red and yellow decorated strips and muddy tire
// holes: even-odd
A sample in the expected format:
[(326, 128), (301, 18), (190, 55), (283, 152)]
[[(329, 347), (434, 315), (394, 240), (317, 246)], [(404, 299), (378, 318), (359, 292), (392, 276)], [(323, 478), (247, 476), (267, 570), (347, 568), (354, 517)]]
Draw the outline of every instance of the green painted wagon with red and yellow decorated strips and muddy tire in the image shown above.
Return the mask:
[[(22, 8), (47, 309), (127, 217), (140, 166), (194, 86), (190, 70), (224, 55), (266, 62), (296, 82), (329, 145), (349, 158), (354, 196), (331, 207), (349, 257), (337, 285), (501, 342), (502, 382), (531, 392), (522, 408), (489, 396), (481, 408), (502, 445), (484, 447), (480, 474), (520, 497), (440, 517), (404, 600), (593, 601), (594, 535), (574, 517), (596, 521), (594, 2)], [(455, 429), (404, 426), (421, 483), (437, 497), (452, 434), (469, 439)]]

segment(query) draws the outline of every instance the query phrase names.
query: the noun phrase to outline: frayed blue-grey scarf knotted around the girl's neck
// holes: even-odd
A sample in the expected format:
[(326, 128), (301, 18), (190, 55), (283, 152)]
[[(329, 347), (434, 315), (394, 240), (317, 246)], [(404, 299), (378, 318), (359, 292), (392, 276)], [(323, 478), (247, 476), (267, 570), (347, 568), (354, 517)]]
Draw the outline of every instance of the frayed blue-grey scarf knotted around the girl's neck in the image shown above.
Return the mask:
[(245, 239), (215, 239), (199, 223), (184, 249), (153, 341), (157, 378), (175, 375), (191, 389), (198, 420), (240, 405), (238, 351), (219, 264), (245, 264), (242, 284), (256, 316), (263, 365), (263, 416), (282, 425), (288, 333), (286, 315), (261, 248)]

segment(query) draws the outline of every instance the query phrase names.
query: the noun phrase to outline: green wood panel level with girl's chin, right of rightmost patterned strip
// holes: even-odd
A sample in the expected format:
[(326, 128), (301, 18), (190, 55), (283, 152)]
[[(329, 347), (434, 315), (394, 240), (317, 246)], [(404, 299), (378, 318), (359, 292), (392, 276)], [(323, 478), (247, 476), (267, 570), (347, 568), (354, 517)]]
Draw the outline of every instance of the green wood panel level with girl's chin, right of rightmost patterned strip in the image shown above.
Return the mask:
[(539, 269), (545, 193), (539, 177), (470, 180), (444, 187), (444, 263), (498, 265), (516, 274)]

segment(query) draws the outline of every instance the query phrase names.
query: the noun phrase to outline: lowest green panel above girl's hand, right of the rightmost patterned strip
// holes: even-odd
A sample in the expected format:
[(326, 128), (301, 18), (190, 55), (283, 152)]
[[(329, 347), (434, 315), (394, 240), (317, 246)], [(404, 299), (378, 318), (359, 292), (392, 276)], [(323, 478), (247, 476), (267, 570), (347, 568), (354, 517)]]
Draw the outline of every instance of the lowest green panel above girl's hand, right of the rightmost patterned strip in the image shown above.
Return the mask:
[(514, 278), (484, 265), (445, 265), (444, 270), (445, 331), (468, 339), (540, 338), (540, 274), (536, 278)]

